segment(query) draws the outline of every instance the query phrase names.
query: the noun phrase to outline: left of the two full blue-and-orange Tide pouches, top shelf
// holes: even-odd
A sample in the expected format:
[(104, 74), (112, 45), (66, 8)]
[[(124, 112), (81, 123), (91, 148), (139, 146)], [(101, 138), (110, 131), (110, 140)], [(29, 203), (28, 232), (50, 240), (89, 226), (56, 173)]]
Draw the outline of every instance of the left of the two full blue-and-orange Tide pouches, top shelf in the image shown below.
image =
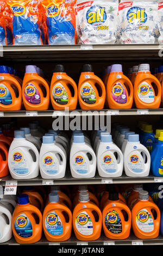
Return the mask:
[(41, 0), (8, 0), (14, 45), (42, 45), (43, 8)]

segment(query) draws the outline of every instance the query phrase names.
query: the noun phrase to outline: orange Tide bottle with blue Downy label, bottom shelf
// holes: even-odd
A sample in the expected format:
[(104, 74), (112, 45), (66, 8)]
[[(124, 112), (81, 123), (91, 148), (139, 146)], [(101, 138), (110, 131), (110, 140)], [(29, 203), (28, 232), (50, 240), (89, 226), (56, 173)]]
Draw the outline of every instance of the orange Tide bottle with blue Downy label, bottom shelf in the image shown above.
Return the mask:
[(49, 194), (48, 204), (43, 211), (42, 224), (48, 241), (61, 242), (70, 239), (72, 213), (60, 202), (58, 193)]

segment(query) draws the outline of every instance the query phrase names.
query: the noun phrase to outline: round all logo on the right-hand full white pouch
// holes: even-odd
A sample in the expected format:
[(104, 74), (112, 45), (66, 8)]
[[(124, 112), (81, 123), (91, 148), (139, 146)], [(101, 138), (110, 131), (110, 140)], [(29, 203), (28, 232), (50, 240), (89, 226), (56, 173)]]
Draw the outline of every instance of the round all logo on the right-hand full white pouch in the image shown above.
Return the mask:
[(143, 25), (147, 21), (147, 13), (140, 7), (131, 7), (127, 12), (127, 20), (133, 25)]

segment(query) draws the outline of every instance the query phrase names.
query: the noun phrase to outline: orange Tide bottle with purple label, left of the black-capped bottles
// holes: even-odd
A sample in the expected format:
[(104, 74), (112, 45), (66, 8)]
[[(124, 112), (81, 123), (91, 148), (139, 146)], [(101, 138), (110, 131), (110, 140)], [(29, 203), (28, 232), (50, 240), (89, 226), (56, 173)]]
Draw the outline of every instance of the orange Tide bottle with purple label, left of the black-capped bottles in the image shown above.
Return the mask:
[(50, 90), (47, 82), (37, 74), (36, 66), (26, 66), (23, 79), (22, 99), (26, 110), (47, 110)]

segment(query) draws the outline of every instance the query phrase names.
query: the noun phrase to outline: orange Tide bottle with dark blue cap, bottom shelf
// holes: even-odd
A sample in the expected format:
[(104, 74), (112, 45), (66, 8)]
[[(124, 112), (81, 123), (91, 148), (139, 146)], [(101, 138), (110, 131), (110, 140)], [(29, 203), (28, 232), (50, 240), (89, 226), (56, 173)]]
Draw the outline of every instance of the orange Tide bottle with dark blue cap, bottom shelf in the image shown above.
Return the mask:
[[(37, 217), (37, 222), (36, 222)], [(17, 243), (35, 243), (42, 236), (42, 215), (29, 204), (27, 194), (18, 196), (18, 204), (12, 215), (12, 232)]]

